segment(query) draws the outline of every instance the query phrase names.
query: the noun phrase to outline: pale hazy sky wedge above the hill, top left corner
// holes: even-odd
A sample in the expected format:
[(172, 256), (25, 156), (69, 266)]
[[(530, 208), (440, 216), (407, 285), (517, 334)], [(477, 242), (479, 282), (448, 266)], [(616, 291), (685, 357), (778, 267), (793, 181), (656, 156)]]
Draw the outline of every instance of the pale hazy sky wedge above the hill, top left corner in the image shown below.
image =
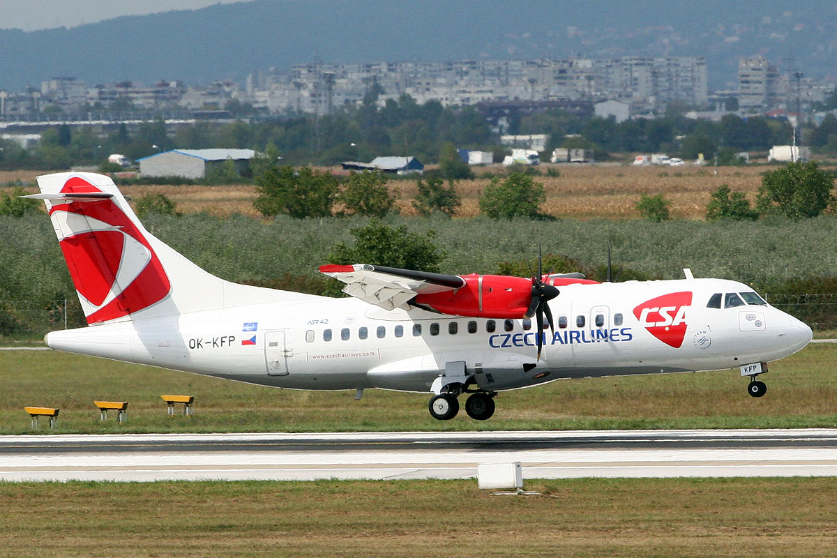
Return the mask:
[(126, 15), (192, 10), (247, 0), (0, 0), (0, 28), (75, 27)]

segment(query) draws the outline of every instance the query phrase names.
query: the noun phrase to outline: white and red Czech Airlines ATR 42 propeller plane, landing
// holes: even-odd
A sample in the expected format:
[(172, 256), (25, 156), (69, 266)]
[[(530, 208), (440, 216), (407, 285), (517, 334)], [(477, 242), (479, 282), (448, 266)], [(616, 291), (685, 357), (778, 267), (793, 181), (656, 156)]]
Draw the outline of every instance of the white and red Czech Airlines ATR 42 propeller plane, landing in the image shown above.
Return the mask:
[[(430, 274), (324, 265), (334, 299), (234, 284), (149, 233), (110, 177), (38, 177), (87, 327), (59, 351), (264, 386), (431, 395), (429, 412), (485, 420), (499, 392), (563, 378), (727, 370), (757, 376), (812, 337), (726, 279), (598, 283), (581, 274)], [(293, 257), (286, 254), (285, 257)], [(534, 323), (532, 318), (535, 318)]]

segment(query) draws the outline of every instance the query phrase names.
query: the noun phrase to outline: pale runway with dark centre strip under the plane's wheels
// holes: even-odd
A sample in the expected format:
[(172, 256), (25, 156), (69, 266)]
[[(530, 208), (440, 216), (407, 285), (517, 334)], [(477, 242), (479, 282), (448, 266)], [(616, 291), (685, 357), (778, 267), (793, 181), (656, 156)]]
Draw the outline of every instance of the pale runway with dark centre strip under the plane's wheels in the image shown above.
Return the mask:
[(837, 429), (0, 436), (0, 479), (837, 476)]

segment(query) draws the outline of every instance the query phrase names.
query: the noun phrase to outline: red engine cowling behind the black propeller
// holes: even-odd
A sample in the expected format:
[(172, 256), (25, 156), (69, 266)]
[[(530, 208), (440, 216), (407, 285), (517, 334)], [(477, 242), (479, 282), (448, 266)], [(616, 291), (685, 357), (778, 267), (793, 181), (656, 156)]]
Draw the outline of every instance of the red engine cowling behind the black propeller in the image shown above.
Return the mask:
[(531, 279), (507, 275), (462, 275), (465, 286), (441, 293), (417, 294), (414, 305), (443, 314), (476, 318), (525, 318), (531, 305)]

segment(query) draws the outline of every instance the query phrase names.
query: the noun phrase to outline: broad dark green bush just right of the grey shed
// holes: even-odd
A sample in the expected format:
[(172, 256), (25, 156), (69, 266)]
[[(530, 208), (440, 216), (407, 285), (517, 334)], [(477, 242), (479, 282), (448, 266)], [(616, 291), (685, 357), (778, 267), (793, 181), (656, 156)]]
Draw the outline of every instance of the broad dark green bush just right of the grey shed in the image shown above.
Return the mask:
[(253, 206), (264, 216), (287, 213), (293, 218), (331, 215), (340, 182), (326, 171), (309, 166), (269, 168), (256, 177)]

